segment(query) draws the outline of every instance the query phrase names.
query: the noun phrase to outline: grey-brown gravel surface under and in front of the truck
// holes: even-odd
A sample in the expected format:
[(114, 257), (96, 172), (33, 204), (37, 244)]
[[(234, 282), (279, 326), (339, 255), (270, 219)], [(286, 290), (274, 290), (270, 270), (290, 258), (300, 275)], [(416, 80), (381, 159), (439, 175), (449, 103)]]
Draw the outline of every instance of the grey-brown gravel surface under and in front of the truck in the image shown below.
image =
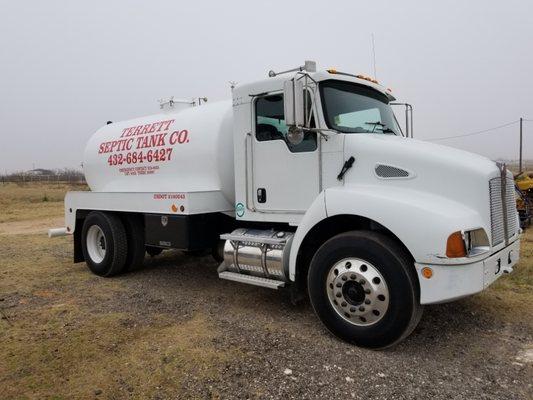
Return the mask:
[[(175, 252), (120, 279), (127, 290), (98, 307), (118, 308), (135, 323), (151, 315), (185, 321), (208, 316), (216, 349), (237, 348), (216, 379), (186, 380), (185, 397), (265, 399), (532, 398), (532, 332), (477, 311), (471, 299), (426, 307), (403, 343), (370, 351), (321, 325), (308, 302), (285, 291), (221, 281), (209, 257)], [(98, 284), (98, 279), (92, 281)], [(214, 396), (214, 393), (217, 396)], [(180, 396), (178, 396), (180, 397)]]

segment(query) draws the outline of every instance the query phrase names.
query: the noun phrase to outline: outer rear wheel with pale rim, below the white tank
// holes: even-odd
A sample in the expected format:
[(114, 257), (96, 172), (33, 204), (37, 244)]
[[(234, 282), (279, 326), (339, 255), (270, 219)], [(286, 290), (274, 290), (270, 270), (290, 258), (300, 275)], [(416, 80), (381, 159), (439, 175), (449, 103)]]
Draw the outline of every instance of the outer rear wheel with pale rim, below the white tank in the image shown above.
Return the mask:
[(109, 277), (122, 272), (128, 247), (118, 216), (92, 211), (83, 223), (81, 245), (85, 262), (94, 274)]

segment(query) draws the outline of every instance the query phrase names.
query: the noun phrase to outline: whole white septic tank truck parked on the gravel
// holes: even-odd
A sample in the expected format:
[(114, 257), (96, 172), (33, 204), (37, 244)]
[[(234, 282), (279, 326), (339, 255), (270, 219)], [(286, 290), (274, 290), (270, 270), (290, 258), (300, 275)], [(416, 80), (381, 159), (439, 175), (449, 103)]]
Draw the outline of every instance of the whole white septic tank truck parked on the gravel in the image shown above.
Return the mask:
[(482, 291), (519, 258), (512, 174), (405, 137), (390, 90), (315, 63), (171, 100), (85, 149), (91, 191), (65, 197), (74, 262), (112, 276), (162, 249), (214, 249), (218, 276), (306, 292), (359, 346), (405, 338), (423, 306)]

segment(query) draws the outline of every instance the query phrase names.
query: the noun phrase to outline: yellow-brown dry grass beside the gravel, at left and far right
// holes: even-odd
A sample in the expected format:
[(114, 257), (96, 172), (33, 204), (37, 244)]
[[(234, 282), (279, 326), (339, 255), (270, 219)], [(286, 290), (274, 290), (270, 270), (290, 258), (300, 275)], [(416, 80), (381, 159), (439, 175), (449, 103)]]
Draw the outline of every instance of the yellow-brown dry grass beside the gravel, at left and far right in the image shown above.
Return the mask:
[[(0, 223), (62, 215), (67, 187), (0, 187)], [(46, 194), (49, 201), (43, 202)], [(495, 319), (533, 326), (533, 229), (519, 266), (473, 298)], [(13, 399), (194, 397), (190, 380), (209, 381), (238, 348), (209, 316), (176, 321), (168, 314), (135, 319), (119, 306), (99, 307), (127, 290), (72, 265), (71, 238), (0, 234), (0, 397)], [(210, 397), (218, 398), (216, 389)]]

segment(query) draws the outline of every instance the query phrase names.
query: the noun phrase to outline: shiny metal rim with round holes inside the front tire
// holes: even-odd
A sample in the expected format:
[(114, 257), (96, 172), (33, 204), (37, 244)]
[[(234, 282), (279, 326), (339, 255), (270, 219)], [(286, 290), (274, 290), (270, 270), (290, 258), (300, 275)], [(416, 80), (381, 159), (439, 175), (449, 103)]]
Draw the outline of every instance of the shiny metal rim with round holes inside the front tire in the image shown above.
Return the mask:
[(352, 325), (368, 326), (383, 318), (389, 308), (389, 289), (379, 270), (358, 258), (335, 263), (326, 279), (333, 309)]

